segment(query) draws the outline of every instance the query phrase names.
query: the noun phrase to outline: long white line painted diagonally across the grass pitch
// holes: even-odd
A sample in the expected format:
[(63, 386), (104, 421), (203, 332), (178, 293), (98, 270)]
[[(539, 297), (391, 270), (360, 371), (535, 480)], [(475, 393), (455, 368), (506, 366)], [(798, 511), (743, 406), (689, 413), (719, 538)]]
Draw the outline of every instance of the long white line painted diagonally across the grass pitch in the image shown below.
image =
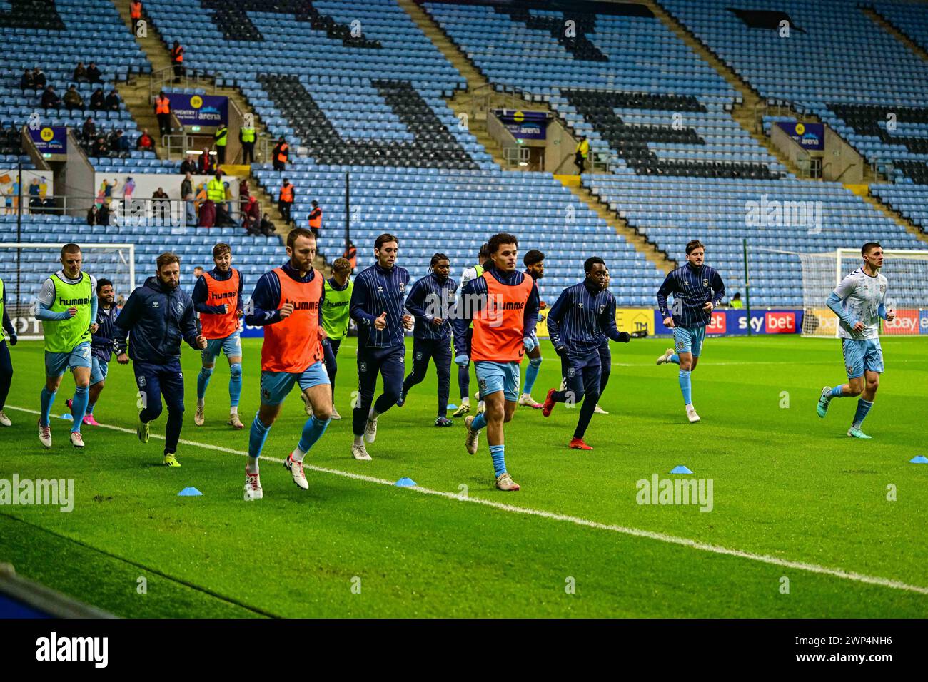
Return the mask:
[[(40, 414), (38, 410), (26, 409), (25, 407), (14, 407), (13, 405), (6, 405), (8, 409), (19, 410), (20, 412), (26, 412), (32, 415)], [(110, 424), (100, 424), (102, 429), (110, 429), (110, 431), (121, 431), (122, 433), (135, 434), (135, 431), (131, 429), (123, 429), (121, 426), (111, 426)], [(164, 436), (152, 434), (152, 438), (157, 438), (159, 440), (164, 440)], [(195, 447), (202, 447), (207, 450), (216, 450), (219, 452), (226, 452), (231, 455), (240, 455), (243, 457), (248, 457), (248, 452), (243, 450), (233, 450), (230, 447), (222, 447), (220, 445), (212, 445), (208, 443), (198, 443), (197, 441), (187, 441), (180, 440), (179, 443), (185, 445), (193, 445)], [(262, 459), (265, 459), (270, 462), (277, 462), (277, 464), (282, 464), (283, 459), (278, 459), (277, 457), (265, 457), (261, 456)], [(335, 476), (342, 476), (343, 478), (353, 479), (354, 481), (364, 481), (366, 483), (379, 483), (380, 485), (390, 485), (391, 487), (395, 486), (395, 482), (388, 481), (387, 479), (379, 479), (375, 476), (366, 476), (360, 473), (353, 473), (352, 471), (342, 471), (339, 469), (328, 469), (326, 467), (316, 467), (311, 464), (303, 463), (303, 469), (309, 469), (318, 471), (319, 473), (330, 473)], [(480, 497), (470, 497), (462, 496), (457, 493), (448, 493), (443, 490), (432, 490), (432, 488), (424, 488), (421, 485), (414, 485), (408, 488), (409, 490), (414, 490), (417, 493), (422, 493), (424, 495), (435, 495), (438, 497), (445, 497), (447, 499), (456, 500), (458, 502), (471, 502), (473, 504), (483, 505), (484, 507), (491, 507), (499, 509), (500, 511), (508, 511), (513, 514), (526, 514), (529, 516), (538, 516), (543, 519), (550, 519), (552, 521), (566, 521), (568, 523), (574, 523), (578, 526), (586, 526), (586, 528), (596, 528), (600, 531), (609, 531), (611, 533), (620, 533), (624, 535), (632, 535), (634, 537), (645, 537), (650, 540), (657, 540), (659, 542), (669, 543), (671, 545), (679, 545), (681, 547), (689, 547), (690, 549), (698, 549), (702, 552), (711, 552), (713, 554), (722, 554), (728, 557), (738, 557), (739, 559), (746, 559), (751, 561), (759, 561), (761, 563), (767, 563), (772, 566), (781, 566), (783, 568), (796, 569), (797, 571), (806, 571), (808, 573), (818, 573), (821, 575), (831, 575), (835, 578), (843, 578), (844, 580), (852, 580), (857, 583), (866, 583), (868, 585), (880, 585), (882, 587), (891, 587), (893, 589), (901, 589), (907, 592), (917, 592), (918, 594), (928, 595), (928, 587), (922, 587), (921, 585), (909, 585), (908, 583), (903, 583), (898, 580), (891, 580), (890, 578), (882, 578), (876, 575), (866, 575), (864, 573), (855, 573), (853, 571), (844, 571), (844, 569), (831, 568), (829, 566), (820, 566), (817, 563), (806, 563), (806, 561), (793, 561), (787, 559), (780, 559), (779, 557), (771, 557), (768, 554), (754, 554), (753, 552), (745, 552), (741, 549), (729, 549), (728, 547), (721, 547), (720, 545), (710, 545), (708, 543), (699, 542), (698, 540), (690, 540), (687, 537), (678, 537), (677, 535), (668, 535), (664, 533), (655, 533), (654, 531), (645, 531), (640, 528), (629, 528), (627, 526), (618, 526), (608, 523), (599, 523), (599, 521), (589, 521), (588, 519), (582, 519), (576, 516), (568, 516), (567, 514), (558, 514), (553, 511), (544, 511), (542, 509), (533, 509), (527, 507), (516, 507), (515, 505), (507, 505), (502, 502), (495, 502), (493, 500), (482, 499)]]

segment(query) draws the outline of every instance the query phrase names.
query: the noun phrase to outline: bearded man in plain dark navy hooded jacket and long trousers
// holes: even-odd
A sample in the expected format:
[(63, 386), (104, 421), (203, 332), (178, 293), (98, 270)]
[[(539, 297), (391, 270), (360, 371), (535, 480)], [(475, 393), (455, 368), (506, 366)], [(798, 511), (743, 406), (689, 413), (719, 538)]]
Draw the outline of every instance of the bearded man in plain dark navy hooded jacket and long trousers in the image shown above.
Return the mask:
[[(171, 251), (158, 256), (156, 275), (136, 288), (113, 322), (116, 362), (126, 365), (132, 358), (141, 411), (135, 434), (148, 443), (150, 422), (161, 416), (161, 395), (168, 405), (164, 429), (164, 465), (179, 467), (174, 456), (184, 426), (184, 372), (180, 367), (180, 342), (191, 348), (206, 348), (197, 329), (190, 295), (180, 288), (180, 258)], [(130, 336), (131, 335), (131, 336)], [(130, 338), (128, 354), (126, 338)], [(76, 413), (75, 413), (76, 414)], [(76, 418), (76, 416), (75, 416)]]

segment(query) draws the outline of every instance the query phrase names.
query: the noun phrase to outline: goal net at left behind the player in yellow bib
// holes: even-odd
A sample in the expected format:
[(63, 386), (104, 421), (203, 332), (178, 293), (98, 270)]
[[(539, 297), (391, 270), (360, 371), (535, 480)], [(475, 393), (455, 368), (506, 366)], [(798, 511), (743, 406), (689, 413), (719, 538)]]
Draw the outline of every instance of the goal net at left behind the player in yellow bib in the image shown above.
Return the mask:
[[(62, 246), (0, 241), (6, 313), (20, 339), (43, 338), (42, 322), (35, 319), (35, 299), (45, 277), (61, 269)], [(135, 244), (81, 243), (80, 247), (81, 269), (97, 280), (109, 279), (118, 303), (129, 298), (135, 288)]]

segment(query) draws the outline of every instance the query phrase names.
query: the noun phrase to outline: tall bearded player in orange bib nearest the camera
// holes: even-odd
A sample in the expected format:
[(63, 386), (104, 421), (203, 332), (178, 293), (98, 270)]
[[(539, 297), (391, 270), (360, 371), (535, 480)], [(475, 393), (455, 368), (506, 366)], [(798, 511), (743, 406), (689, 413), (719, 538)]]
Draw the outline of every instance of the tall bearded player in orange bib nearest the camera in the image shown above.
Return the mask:
[(293, 483), (309, 489), (303, 473), (303, 457), (326, 432), (332, 418), (329, 375), (322, 364), (322, 300), (325, 296), (322, 273), (313, 268), (316, 237), (297, 227), (287, 236), (290, 261), (264, 273), (251, 294), (245, 322), (264, 327), (261, 346), (261, 407), (251, 422), (248, 464), (245, 467), (245, 499), (264, 496), (258, 471), (258, 457), (267, 433), (280, 414), (280, 404), (294, 383), (300, 384), (313, 415), (306, 419), (296, 448), (284, 462)]

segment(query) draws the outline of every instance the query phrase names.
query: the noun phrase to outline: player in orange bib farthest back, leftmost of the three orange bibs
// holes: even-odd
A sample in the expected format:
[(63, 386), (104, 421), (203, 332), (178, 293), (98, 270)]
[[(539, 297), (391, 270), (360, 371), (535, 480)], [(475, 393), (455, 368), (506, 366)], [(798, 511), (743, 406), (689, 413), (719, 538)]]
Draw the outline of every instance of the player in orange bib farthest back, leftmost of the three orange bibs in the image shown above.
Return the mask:
[(200, 354), (202, 367), (197, 375), (197, 412), (193, 423), (202, 426), (206, 405), (206, 387), (210, 385), (213, 367), (220, 353), (229, 361), (229, 418), (227, 426), (244, 429), (238, 418), (241, 398), (241, 289), (242, 277), (232, 267), (232, 247), (220, 242), (213, 247), (215, 267), (204, 272), (193, 288), (193, 307), (200, 313), (200, 327), (206, 337), (206, 349)]

